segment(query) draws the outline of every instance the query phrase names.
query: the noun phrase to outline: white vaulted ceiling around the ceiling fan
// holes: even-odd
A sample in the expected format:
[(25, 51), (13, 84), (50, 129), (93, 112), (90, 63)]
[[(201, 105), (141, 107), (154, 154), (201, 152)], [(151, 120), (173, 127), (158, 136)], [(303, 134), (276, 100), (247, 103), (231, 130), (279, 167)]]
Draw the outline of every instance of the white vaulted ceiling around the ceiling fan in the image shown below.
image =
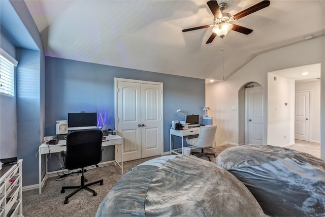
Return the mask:
[[(201, 79), (228, 78), (258, 54), (324, 35), (323, 0), (273, 0), (233, 22), (250, 35), (206, 44), (211, 27), (182, 32), (213, 24), (206, 2), (25, 0), (47, 56)], [(234, 15), (260, 1), (221, 2)]]

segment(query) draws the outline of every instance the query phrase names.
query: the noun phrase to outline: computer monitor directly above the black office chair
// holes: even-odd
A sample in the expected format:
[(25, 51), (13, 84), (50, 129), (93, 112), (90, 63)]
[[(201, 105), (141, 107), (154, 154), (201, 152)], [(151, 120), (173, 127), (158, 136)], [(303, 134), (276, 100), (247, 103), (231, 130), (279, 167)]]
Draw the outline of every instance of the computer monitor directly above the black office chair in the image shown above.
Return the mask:
[(68, 131), (97, 128), (96, 112), (68, 113)]

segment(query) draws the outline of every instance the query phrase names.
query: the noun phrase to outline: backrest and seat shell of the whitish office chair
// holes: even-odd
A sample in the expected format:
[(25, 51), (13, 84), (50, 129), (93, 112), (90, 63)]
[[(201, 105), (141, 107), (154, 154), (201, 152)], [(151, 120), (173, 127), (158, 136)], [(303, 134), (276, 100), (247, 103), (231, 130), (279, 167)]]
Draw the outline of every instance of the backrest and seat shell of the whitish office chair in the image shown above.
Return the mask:
[(212, 147), (215, 139), (215, 132), (217, 131), (217, 126), (202, 126), (200, 127), (200, 134), (198, 139), (194, 141), (191, 145), (197, 147)]

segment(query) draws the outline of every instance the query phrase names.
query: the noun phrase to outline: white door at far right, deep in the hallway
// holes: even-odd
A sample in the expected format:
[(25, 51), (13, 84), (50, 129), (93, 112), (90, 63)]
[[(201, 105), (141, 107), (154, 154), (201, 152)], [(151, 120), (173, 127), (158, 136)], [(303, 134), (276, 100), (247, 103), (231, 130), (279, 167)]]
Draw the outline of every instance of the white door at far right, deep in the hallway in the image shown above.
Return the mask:
[(295, 139), (309, 141), (309, 91), (296, 92)]

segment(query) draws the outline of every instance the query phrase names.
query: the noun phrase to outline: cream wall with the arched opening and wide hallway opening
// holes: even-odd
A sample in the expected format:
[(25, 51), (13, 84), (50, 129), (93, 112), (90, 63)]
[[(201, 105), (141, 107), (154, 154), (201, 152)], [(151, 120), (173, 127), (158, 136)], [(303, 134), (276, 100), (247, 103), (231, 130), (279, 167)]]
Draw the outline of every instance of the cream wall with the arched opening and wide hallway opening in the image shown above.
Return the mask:
[[(239, 144), (239, 111), (232, 111), (232, 106), (239, 104), (238, 91), (249, 82), (258, 82), (264, 89), (265, 109), (267, 114), (267, 73), (281, 69), (288, 69), (309, 64), (321, 64), (321, 76), (324, 73), (324, 37), (319, 37), (280, 48), (253, 58), (244, 67), (225, 81), (206, 85), (206, 105), (210, 107), (210, 116), (214, 116), (213, 122), (218, 125), (216, 144), (226, 141)], [(325, 91), (322, 88), (322, 101), (325, 101)], [(325, 109), (325, 103), (322, 102)], [(267, 138), (267, 115), (265, 115), (265, 135)], [(322, 114), (322, 121), (325, 113)], [(321, 123), (325, 127), (324, 123)], [(322, 129), (322, 128), (321, 128)], [(322, 130), (325, 132), (325, 130)], [(325, 158), (325, 135), (321, 142), (321, 158)]]

